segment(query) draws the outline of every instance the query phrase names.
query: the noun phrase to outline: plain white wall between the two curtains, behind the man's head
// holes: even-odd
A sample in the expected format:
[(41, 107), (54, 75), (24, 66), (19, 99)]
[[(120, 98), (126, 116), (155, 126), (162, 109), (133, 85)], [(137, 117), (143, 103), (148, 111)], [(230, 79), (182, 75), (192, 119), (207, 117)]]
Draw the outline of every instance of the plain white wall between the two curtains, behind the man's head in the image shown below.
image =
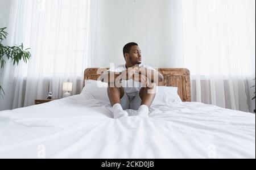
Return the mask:
[[(96, 2), (96, 1), (95, 1)], [(92, 29), (93, 67), (108, 67), (110, 62), (124, 63), (122, 49), (127, 42), (137, 42), (143, 63), (153, 67), (170, 67), (166, 39), (166, 0), (98, 0), (97, 23)], [(133, 11), (133, 12), (131, 12)], [(95, 14), (93, 14), (95, 15)], [(96, 27), (95, 27), (96, 26)], [(167, 58), (167, 57), (166, 57)]]

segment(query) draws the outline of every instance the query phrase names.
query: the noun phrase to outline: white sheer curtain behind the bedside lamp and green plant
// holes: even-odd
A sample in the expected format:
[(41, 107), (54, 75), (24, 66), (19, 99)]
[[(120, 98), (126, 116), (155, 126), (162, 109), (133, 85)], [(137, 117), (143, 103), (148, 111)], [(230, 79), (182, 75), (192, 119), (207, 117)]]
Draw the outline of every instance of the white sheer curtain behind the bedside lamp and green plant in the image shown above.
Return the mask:
[(6, 92), (1, 110), (26, 107), (35, 99), (63, 96), (63, 82), (79, 94), (90, 46), (90, 0), (13, 0), (7, 44), (23, 42), (32, 57), (27, 65), (7, 63), (1, 82)]

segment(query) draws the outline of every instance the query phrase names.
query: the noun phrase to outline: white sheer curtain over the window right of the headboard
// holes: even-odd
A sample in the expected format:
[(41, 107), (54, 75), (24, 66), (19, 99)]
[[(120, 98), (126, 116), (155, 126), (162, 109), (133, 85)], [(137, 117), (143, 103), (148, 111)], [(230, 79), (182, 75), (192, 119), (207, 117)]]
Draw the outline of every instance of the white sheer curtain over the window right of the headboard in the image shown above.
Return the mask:
[(252, 112), (255, 1), (170, 2), (171, 59), (191, 70), (192, 100)]

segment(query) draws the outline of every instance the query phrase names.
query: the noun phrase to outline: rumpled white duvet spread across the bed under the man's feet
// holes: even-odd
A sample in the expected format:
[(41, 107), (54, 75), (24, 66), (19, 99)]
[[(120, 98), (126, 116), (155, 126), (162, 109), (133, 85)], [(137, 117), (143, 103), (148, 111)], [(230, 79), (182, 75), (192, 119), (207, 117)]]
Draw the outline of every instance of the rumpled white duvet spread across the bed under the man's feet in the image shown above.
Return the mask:
[(0, 112), (0, 158), (255, 158), (255, 114), (180, 102), (129, 113), (114, 120), (85, 95)]

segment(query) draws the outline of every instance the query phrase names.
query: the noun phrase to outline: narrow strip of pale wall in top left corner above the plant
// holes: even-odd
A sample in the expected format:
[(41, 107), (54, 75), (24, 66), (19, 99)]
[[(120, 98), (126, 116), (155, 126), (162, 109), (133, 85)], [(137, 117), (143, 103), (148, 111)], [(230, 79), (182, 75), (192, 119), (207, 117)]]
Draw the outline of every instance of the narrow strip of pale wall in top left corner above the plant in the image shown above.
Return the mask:
[(8, 25), (10, 4), (10, 0), (0, 0), (0, 28)]

